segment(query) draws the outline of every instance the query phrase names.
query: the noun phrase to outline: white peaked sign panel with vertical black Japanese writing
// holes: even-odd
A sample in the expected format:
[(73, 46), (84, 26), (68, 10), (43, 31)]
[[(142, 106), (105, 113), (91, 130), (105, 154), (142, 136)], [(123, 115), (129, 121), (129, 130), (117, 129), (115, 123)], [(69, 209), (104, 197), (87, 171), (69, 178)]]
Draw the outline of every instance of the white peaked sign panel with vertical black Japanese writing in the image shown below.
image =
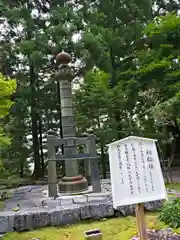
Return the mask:
[(131, 136), (108, 145), (114, 208), (167, 198), (155, 142)]

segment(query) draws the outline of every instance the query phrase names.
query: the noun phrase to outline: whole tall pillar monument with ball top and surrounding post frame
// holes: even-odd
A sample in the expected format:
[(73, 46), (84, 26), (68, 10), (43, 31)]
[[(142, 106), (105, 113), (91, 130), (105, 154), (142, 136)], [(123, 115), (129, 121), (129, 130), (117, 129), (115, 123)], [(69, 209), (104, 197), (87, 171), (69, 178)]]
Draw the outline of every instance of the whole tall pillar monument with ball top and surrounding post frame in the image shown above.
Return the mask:
[[(56, 79), (60, 85), (61, 117), (63, 138), (48, 133), (48, 188), (49, 196), (57, 195), (56, 161), (65, 161), (66, 176), (58, 183), (60, 193), (78, 194), (88, 190), (88, 181), (79, 175), (78, 161), (85, 161), (85, 172), (92, 182), (93, 192), (101, 192), (100, 174), (98, 169), (96, 143), (94, 136), (77, 138), (72, 104), (71, 81), (74, 77), (69, 66), (71, 56), (61, 52), (56, 57), (59, 70)], [(85, 153), (78, 153), (80, 145), (85, 146)], [(64, 153), (56, 154), (56, 147), (62, 146)]]

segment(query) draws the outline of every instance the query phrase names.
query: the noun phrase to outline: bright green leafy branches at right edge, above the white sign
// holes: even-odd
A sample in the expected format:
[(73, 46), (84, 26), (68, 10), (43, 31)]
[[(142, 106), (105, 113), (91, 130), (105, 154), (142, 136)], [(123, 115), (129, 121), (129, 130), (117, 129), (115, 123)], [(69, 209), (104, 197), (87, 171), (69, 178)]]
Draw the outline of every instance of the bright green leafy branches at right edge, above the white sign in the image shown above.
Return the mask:
[[(179, 123), (180, 18), (175, 13), (156, 17), (143, 32), (145, 44), (138, 52), (136, 79), (142, 89), (154, 88), (146, 113), (158, 125)], [(149, 101), (149, 99), (148, 99)]]

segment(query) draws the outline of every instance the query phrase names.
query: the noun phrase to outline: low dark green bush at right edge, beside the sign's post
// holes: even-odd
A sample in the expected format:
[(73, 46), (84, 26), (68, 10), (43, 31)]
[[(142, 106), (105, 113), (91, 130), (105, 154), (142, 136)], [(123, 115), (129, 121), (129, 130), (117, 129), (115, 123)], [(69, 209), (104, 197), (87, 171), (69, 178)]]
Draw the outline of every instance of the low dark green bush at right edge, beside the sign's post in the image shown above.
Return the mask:
[(180, 198), (166, 202), (160, 212), (159, 219), (170, 227), (180, 227)]

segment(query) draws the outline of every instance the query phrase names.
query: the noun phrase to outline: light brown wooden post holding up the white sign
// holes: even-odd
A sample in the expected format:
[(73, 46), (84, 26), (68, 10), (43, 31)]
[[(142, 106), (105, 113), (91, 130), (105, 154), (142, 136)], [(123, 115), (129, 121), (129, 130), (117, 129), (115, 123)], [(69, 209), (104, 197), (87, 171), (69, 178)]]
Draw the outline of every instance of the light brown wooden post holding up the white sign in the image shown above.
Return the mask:
[(136, 204), (136, 221), (139, 232), (140, 240), (147, 240), (146, 221), (144, 216), (144, 205), (143, 203)]

